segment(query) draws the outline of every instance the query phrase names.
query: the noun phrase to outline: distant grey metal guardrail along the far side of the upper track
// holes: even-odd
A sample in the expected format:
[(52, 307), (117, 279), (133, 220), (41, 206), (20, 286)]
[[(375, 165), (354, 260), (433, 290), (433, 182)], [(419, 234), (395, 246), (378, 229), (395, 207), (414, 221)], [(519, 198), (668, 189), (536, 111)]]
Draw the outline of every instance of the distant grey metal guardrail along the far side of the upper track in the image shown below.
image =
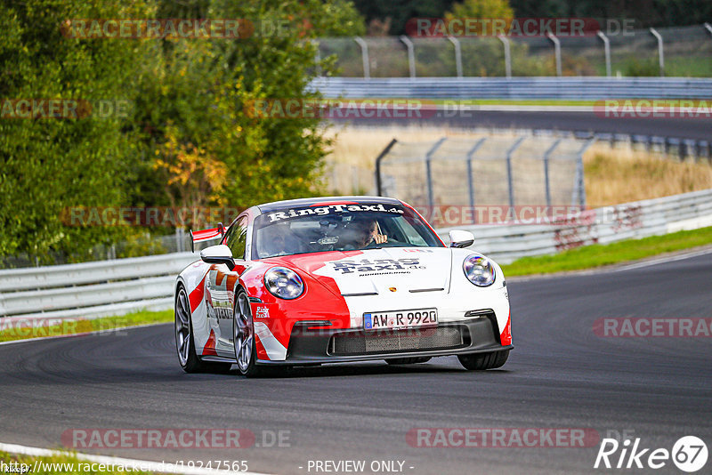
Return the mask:
[(327, 98), (708, 99), (712, 78), (683, 77), (316, 77)]

